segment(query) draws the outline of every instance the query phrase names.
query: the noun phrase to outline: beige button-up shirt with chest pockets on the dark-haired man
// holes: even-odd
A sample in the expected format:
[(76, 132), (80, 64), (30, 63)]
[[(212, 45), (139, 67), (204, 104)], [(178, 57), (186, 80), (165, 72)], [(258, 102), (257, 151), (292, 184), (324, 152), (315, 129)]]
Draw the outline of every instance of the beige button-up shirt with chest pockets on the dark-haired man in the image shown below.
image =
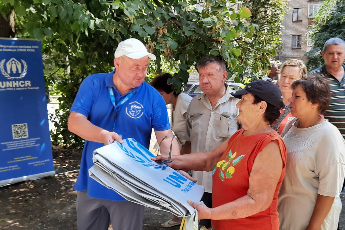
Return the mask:
[[(214, 109), (205, 93), (191, 100), (185, 134), (186, 141), (190, 141), (191, 152), (212, 151), (238, 130), (236, 104), (239, 99), (230, 94), (234, 92), (230, 87), (226, 87), (225, 95)], [(205, 187), (205, 192), (212, 192), (211, 172), (192, 171), (192, 176), (197, 179), (197, 184)]]

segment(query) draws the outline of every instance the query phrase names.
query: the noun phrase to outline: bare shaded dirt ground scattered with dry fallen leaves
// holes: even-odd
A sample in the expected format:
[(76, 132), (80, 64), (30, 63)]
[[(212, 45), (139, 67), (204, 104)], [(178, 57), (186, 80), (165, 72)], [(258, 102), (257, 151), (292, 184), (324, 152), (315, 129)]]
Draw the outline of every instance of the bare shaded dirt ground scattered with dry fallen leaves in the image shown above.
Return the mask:
[[(81, 150), (53, 147), (55, 176), (0, 187), (0, 230), (54, 229), (76, 230), (76, 191)], [(344, 203), (344, 196), (341, 195)], [(345, 230), (345, 207), (340, 230)], [(146, 208), (144, 230), (163, 230), (160, 223), (172, 215)], [(169, 230), (178, 230), (179, 226)], [(109, 230), (112, 230), (111, 226)]]

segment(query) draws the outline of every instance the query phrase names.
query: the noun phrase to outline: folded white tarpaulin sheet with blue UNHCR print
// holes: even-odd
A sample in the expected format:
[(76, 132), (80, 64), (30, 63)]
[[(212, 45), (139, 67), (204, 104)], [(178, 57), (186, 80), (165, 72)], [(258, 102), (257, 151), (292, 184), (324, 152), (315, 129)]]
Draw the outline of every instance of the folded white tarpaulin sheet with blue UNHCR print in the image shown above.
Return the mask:
[(95, 165), (90, 177), (125, 199), (179, 217), (191, 216), (195, 209), (187, 200), (199, 202), (205, 188), (188, 180), (155, 157), (133, 138), (114, 142), (93, 152)]

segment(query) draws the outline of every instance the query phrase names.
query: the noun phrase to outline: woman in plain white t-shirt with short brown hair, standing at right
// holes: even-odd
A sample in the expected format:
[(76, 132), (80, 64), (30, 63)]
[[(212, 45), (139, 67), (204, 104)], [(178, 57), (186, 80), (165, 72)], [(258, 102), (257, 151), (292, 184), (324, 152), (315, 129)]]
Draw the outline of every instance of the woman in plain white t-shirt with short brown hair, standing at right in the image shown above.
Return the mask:
[(282, 230), (336, 230), (345, 175), (345, 143), (323, 119), (330, 101), (327, 81), (312, 76), (292, 83), (290, 121), (282, 132), (286, 171), (278, 195)]

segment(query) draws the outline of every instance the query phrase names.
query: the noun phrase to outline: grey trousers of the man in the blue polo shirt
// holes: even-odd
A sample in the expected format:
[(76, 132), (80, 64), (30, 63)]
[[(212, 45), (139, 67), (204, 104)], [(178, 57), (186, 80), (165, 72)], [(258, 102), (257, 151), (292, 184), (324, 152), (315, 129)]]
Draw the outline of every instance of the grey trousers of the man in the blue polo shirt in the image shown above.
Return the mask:
[(140, 230), (144, 220), (144, 206), (130, 201), (92, 198), (87, 191), (77, 192), (77, 229)]

